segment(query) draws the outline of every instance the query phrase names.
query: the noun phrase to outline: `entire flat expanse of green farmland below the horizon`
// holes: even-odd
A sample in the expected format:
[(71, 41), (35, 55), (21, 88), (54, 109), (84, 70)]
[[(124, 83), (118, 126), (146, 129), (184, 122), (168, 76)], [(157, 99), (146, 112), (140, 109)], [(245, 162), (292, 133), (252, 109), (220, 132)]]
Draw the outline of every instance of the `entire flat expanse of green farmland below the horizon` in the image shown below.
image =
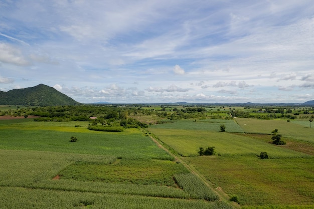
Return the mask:
[[(0, 109), (43, 116), (0, 120), (0, 208), (314, 207), (308, 115), (292, 120), (293, 112), (243, 107), (14, 108)], [(94, 131), (91, 123), (123, 131)], [(273, 129), (285, 145), (272, 143)], [(215, 153), (200, 156), (200, 147)]]

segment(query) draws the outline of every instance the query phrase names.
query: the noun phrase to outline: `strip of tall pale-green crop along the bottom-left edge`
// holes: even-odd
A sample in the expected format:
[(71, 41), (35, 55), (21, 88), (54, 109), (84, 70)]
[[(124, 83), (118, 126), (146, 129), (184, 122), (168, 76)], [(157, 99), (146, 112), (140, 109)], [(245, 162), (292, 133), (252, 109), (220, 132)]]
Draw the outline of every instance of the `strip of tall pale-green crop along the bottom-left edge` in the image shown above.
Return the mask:
[[(1, 187), (1, 208), (15, 209), (232, 209), (221, 201), (204, 201), (23, 187)], [(14, 201), (13, 201), (14, 200)]]

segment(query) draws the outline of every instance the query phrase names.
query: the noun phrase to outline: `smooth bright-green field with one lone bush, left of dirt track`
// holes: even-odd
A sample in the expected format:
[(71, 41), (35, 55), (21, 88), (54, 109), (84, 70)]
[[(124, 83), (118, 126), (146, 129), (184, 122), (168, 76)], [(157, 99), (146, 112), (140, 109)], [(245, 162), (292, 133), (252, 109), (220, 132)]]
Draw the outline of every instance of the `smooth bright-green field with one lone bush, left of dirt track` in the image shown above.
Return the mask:
[[(75, 124), (82, 127), (75, 127)], [(57, 126), (59, 125), (59, 126)], [(70, 126), (71, 125), (71, 126)], [(38, 150), (126, 158), (172, 159), (138, 129), (121, 133), (90, 131), (79, 122), (26, 122), (0, 125), (0, 149)], [(71, 136), (78, 142), (69, 142)]]

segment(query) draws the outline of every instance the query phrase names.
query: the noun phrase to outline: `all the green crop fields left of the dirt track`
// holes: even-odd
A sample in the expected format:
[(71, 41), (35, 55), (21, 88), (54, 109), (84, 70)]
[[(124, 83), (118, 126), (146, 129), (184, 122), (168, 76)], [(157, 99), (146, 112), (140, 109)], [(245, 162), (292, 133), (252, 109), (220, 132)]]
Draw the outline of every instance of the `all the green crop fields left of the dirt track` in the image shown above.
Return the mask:
[(87, 126), (0, 120), (0, 208), (232, 208), (139, 129)]

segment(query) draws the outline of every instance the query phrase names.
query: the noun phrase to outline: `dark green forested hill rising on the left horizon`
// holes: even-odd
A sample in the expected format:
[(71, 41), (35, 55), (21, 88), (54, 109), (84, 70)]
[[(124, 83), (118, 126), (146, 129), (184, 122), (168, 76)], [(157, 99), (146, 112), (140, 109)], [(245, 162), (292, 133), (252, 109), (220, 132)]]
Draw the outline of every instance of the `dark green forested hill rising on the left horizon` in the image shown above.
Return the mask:
[(78, 105), (79, 102), (57, 91), (56, 89), (39, 84), (25, 89), (13, 89), (8, 92), (0, 91), (0, 105)]

